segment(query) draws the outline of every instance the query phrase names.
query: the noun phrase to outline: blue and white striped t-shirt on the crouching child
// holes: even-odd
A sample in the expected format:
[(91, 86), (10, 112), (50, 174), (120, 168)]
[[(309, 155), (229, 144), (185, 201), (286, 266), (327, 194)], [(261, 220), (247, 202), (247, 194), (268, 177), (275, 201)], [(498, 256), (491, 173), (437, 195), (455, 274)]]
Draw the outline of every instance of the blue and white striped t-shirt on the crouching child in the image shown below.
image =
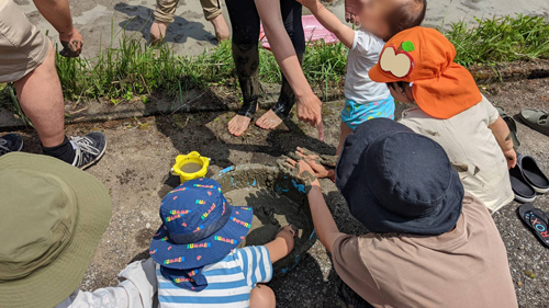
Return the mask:
[(265, 246), (246, 247), (205, 265), (202, 274), (208, 281), (204, 289), (184, 289), (166, 280), (156, 264), (159, 307), (249, 307), (249, 295), (256, 284), (272, 278), (272, 264)]

